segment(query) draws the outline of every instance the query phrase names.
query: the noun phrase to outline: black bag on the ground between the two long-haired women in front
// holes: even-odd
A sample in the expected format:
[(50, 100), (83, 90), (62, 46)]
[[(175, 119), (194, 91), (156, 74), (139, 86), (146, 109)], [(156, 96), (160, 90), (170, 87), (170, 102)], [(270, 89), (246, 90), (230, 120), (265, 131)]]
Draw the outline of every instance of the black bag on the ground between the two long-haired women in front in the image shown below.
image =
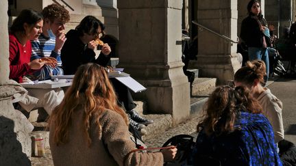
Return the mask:
[(162, 147), (176, 146), (177, 154), (174, 161), (164, 163), (164, 165), (188, 165), (190, 163), (190, 154), (195, 142), (191, 135), (175, 135), (168, 139)]

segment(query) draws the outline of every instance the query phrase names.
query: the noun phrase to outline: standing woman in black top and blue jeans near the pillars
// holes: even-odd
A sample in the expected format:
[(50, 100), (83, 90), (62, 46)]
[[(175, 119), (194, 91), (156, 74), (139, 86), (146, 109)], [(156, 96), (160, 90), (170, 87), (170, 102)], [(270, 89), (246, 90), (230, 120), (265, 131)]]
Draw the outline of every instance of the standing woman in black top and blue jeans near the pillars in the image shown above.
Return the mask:
[(240, 38), (248, 46), (249, 60), (259, 59), (264, 61), (266, 68), (266, 83), (269, 77), (269, 55), (267, 47), (271, 46), (270, 34), (267, 20), (263, 18), (260, 8), (260, 1), (251, 0), (247, 5), (249, 16), (243, 19)]

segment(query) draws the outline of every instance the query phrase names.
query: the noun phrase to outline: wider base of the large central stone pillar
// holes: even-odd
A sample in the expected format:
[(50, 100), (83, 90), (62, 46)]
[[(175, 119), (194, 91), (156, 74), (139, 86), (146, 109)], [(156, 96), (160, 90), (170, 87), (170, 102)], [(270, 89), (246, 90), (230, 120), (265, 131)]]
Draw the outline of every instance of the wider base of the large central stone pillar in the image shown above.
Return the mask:
[(169, 113), (173, 116), (173, 124), (189, 117), (190, 87), (181, 62), (164, 66), (120, 64), (120, 67), (147, 88), (132, 96), (147, 101), (149, 113)]

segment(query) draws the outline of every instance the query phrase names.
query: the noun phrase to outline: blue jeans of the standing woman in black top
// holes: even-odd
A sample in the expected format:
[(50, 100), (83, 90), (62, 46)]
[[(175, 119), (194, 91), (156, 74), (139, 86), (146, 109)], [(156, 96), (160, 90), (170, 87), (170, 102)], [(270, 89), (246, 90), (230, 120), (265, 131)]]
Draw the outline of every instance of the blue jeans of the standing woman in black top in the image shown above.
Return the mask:
[(259, 59), (264, 61), (266, 66), (266, 76), (264, 76), (265, 83), (268, 81), (269, 78), (269, 55), (267, 48), (260, 48), (260, 47), (249, 47), (248, 48), (249, 60)]

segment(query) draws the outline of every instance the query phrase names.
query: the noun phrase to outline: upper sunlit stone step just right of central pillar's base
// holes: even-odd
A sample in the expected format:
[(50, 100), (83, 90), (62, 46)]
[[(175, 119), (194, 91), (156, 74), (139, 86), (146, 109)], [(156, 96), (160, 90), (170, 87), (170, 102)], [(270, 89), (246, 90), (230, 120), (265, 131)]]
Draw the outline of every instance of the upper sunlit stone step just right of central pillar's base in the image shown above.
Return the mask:
[(206, 92), (212, 87), (216, 87), (216, 78), (195, 78), (193, 81), (193, 86), (191, 87), (192, 96), (200, 96), (201, 93)]

